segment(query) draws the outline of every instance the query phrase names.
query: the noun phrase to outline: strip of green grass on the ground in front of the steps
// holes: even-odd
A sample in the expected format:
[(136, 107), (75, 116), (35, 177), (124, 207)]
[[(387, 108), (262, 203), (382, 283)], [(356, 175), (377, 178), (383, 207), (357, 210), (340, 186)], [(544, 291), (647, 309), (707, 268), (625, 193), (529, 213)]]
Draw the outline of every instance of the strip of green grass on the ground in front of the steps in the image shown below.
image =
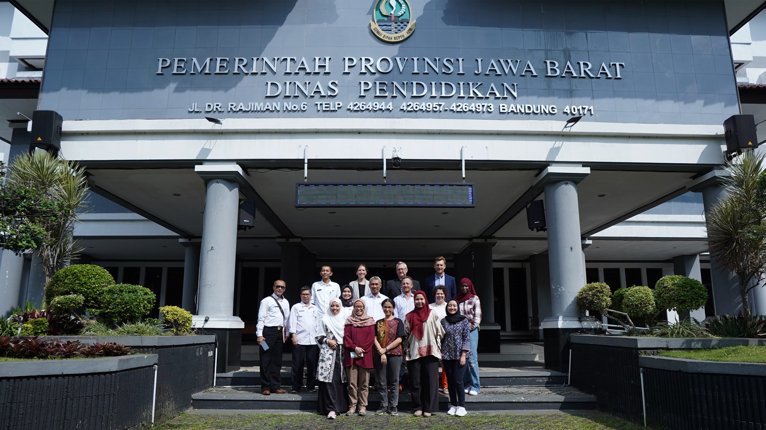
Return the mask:
[(643, 430), (643, 425), (627, 422), (612, 415), (592, 412), (588, 415), (466, 415), (462, 418), (439, 413), (430, 418), (403, 414), (341, 416), (336, 420), (316, 414), (257, 414), (257, 415), (196, 415), (182, 414), (178, 418), (155, 426), (158, 430)]

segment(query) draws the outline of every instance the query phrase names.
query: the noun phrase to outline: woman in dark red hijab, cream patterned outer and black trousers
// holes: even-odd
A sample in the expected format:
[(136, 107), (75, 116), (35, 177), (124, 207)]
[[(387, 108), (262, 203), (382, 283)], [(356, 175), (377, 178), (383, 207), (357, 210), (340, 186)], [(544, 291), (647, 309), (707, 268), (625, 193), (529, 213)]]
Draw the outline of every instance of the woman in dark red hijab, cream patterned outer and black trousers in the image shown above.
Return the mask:
[(412, 410), (415, 416), (430, 416), (439, 409), (439, 360), (444, 327), (436, 311), (428, 307), (426, 293), (415, 292), (415, 308), (404, 319), (408, 333), (404, 360), (410, 370)]

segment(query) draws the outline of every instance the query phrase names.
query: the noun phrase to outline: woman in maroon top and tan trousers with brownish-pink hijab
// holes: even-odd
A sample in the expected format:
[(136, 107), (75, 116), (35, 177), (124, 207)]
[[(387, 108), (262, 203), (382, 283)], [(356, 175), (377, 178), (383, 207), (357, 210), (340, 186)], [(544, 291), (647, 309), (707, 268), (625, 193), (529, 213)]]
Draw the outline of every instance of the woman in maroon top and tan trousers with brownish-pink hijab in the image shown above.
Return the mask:
[(375, 320), (367, 314), (365, 301), (354, 301), (354, 312), (345, 320), (343, 336), (345, 359), (343, 365), (349, 375), (349, 412), (353, 415), (359, 408), (359, 415), (367, 415), (370, 369), (372, 369), (372, 347), (375, 344)]

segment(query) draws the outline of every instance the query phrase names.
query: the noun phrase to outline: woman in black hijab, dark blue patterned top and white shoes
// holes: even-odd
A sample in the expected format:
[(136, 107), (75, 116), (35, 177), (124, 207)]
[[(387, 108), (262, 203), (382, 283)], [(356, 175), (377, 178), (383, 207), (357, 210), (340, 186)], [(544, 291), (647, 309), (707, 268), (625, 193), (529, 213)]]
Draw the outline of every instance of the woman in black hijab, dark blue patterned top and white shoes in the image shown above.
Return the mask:
[(447, 385), (450, 388), (450, 410), (447, 415), (466, 415), (466, 393), (463, 376), (466, 373), (466, 357), (471, 355), (468, 318), (460, 314), (460, 305), (454, 298), (447, 301), (447, 316), (441, 320), (444, 337), (441, 340), (441, 360)]

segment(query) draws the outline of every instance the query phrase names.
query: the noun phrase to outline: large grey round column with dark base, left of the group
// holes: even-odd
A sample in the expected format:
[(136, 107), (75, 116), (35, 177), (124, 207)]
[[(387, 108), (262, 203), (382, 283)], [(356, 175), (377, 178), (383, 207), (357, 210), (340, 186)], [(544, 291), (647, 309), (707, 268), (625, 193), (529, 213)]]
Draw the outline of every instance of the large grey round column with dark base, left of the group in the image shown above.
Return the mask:
[[(234, 316), (237, 259), (237, 213), (240, 187), (250, 187), (242, 169), (232, 163), (195, 166), (205, 180), (205, 218), (199, 264), (195, 327), (218, 335), (218, 372), (239, 370), (244, 322)], [(205, 321), (208, 318), (208, 321)]]

